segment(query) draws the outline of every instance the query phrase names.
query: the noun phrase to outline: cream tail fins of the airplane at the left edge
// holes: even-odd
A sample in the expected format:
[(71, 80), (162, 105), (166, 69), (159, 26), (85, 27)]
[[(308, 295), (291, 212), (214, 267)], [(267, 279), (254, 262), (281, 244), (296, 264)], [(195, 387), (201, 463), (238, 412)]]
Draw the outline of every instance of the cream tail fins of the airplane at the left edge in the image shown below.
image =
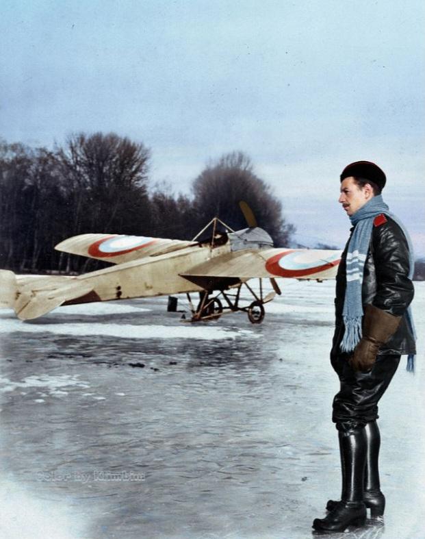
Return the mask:
[(0, 271), (0, 307), (14, 309), (21, 320), (38, 318), (92, 291), (92, 285), (72, 277), (25, 277), (22, 282), (12, 271)]

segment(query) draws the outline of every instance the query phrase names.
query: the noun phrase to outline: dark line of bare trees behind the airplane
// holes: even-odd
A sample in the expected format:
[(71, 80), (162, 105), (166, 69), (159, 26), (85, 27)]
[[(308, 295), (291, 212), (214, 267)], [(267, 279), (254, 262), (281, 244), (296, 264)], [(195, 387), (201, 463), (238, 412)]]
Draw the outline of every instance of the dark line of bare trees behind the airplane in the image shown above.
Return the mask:
[(0, 141), (0, 268), (83, 272), (103, 262), (55, 251), (70, 236), (99, 232), (191, 240), (214, 216), (246, 227), (245, 200), (276, 246), (294, 226), (241, 152), (209, 163), (190, 195), (152, 187), (151, 151), (116, 134), (74, 134), (53, 150)]

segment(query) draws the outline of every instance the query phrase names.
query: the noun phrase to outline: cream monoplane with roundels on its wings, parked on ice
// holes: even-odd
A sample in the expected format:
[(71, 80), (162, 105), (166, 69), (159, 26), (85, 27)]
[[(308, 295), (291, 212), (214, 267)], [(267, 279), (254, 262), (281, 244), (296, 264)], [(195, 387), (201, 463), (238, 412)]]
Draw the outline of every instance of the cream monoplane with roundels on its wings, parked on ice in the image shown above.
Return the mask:
[[(270, 235), (257, 226), (250, 209), (241, 208), (248, 227), (234, 231), (214, 218), (191, 241), (80, 234), (55, 246), (58, 251), (114, 264), (78, 276), (15, 275), (0, 271), (0, 307), (13, 308), (18, 318), (37, 318), (60, 305), (187, 294), (191, 321), (244, 311), (261, 323), (264, 304), (281, 294), (276, 278), (333, 279), (341, 251), (274, 248)], [(211, 230), (211, 234), (207, 231)], [(250, 279), (259, 279), (257, 291)], [(265, 294), (263, 279), (273, 291)], [(244, 304), (242, 287), (251, 301)], [(190, 294), (198, 292), (194, 306)]]

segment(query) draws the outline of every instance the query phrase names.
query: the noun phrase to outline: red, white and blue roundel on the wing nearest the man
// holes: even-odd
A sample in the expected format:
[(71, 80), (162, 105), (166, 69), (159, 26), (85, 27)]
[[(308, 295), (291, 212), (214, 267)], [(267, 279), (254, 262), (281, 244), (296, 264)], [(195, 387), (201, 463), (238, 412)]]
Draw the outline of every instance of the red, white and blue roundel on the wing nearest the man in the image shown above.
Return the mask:
[(339, 260), (341, 260), (339, 253), (319, 258), (314, 256), (313, 250), (288, 250), (269, 258), (266, 262), (266, 270), (279, 277), (305, 277), (336, 266)]

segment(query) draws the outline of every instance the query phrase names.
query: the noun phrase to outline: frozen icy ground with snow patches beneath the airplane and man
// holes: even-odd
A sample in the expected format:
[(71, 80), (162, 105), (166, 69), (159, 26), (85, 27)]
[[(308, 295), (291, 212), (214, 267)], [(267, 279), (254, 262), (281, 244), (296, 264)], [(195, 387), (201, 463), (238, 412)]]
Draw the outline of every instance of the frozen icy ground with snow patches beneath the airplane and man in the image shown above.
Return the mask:
[[(340, 488), (333, 286), (285, 281), (258, 326), (183, 323), (166, 298), (0, 312), (0, 537), (311, 538)], [(381, 401), (385, 525), (335, 539), (425, 538), (418, 347)]]

